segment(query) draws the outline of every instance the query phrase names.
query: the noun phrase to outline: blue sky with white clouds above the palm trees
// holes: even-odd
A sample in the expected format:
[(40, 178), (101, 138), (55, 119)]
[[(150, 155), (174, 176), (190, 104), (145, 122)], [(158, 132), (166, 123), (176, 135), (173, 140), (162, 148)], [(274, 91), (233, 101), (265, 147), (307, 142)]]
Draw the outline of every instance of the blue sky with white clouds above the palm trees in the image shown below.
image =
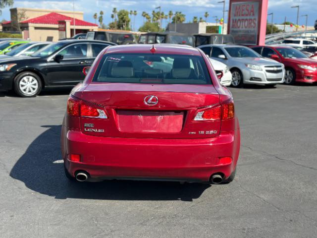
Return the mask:
[[(94, 22), (93, 14), (103, 10), (104, 23), (108, 24), (111, 21), (110, 15), (113, 7), (127, 10), (137, 10), (138, 15), (135, 18), (135, 26), (139, 28), (142, 25), (142, 11), (151, 13), (152, 10), (161, 6), (165, 14), (169, 10), (182, 11), (186, 14), (186, 21), (192, 20), (193, 16), (204, 17), (205, 11), (208, 11), (210, 16), (208, 21), (213, 22), (212, 16), (222, 16), (222, 3), (217, 3), (220, 0), (74, 0), (75, 10), (84, 11), (84, 18), (87, 21)], [(226, 9), (228, 9), (229, 1), (227, 1)], [(317, 0), (269, 0), (268, 12), (274, 13), (274, 23), (284, 21), (287, 17), (288, 21), (296, 22), (297, 11), (290, 8), (292, 5), (300, 5), (300, 15), (308, 14), (308, 25), (314, 25), (317, 20)], [(13, 7), (32, 7), (32, 8), (53, 8), (72, 10), (72, 0), (14, 0)], [(1, 19), (10, 19), (9, 8), (2, 9)], [(270, 16), (269, 16), (270, 20)], [(300, 25), (305, 24), (305, 17), (300, 18)], [(165, 21), (163, 22), (165, 26)]]

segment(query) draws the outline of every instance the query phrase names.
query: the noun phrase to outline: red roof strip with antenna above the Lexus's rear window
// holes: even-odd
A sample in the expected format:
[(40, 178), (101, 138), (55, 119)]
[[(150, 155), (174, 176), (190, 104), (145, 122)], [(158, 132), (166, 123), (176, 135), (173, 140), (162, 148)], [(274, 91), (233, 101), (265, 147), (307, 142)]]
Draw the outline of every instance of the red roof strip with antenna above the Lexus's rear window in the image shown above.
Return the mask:
[(152, 47), (155, 47), (154, 54), (174, 54), (174, 55), (194, 55), (201, 56), (198, 49), (183, 45), (173, 44), (135, 44), (135, 45), (120, 45), (110, 46), (106, 53), (151, 53)]

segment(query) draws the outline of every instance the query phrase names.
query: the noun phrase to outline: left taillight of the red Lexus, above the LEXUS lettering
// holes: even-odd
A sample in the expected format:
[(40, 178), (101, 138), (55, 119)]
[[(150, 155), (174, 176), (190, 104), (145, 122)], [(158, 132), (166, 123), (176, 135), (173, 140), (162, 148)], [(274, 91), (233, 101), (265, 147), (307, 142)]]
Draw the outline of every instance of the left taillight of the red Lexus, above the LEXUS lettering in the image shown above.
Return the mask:
[(101, 118), (107, 119), (107, 114), (102, 107), (87, 102), (69, 98), (67, 101), (68, 115), (75, 117)]

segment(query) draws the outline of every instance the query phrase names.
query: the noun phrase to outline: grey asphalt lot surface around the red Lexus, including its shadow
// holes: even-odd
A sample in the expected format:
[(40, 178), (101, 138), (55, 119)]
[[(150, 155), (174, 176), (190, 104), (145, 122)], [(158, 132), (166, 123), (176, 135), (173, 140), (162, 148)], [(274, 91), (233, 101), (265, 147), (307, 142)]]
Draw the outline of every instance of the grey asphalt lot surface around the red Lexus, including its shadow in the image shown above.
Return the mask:
[(67, 91), (0, 94), (2, 238), (313, 238), (317, 85), (232, 89), (242, 146), (230, 184), (71, 183)]

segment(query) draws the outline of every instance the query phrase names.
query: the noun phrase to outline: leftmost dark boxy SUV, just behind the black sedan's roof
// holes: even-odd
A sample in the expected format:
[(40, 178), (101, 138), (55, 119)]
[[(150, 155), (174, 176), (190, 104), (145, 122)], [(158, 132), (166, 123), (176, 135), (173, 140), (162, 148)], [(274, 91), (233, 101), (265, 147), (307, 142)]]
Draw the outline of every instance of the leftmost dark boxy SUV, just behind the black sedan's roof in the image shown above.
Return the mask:
[(90, 31), (87, 33), (86, 39), (108, 41), (116, 45), (136, 44), (135, 35), (130, 32)]

